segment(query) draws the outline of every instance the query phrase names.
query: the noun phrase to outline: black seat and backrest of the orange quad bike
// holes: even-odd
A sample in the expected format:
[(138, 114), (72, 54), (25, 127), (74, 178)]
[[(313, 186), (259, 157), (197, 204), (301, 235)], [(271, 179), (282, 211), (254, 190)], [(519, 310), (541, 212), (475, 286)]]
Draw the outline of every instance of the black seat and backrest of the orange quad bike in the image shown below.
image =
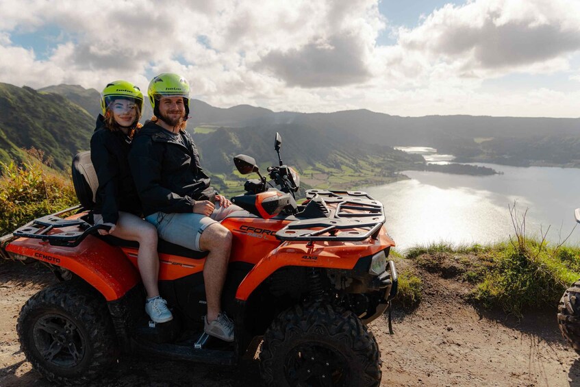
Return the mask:
[[(90, 151), (80, 152), (75, 155), (75, 158), (73, 158), (72, 175), (73, 186), (75, 186), (77, 199), (79, 199), (79, 202), (85, 210), (92, 211), (94, 208), (95, 197), (97, 196), (99, 180), (97, 179), (97, 173), (94, 171), (94, 166), (92, 166), (92, 162), (90, 161)], [(84, 216), (84, 219), (91, 220), (92, 216)], [(95, 236), (101, 238), (113, 246), (132, 247), (134, 249), (139, 247), (139, 243), (133, 240), (125, 240), (112, 235), (101, 236), (100, 234), (95, 234)], [(161, 238), (157, 243), (157, 251), (159, 253), (192, 258), (194, 260), (205, 258), (207, 255), (207, 251), (191, 250), (186, 247), (167, 242)]]

